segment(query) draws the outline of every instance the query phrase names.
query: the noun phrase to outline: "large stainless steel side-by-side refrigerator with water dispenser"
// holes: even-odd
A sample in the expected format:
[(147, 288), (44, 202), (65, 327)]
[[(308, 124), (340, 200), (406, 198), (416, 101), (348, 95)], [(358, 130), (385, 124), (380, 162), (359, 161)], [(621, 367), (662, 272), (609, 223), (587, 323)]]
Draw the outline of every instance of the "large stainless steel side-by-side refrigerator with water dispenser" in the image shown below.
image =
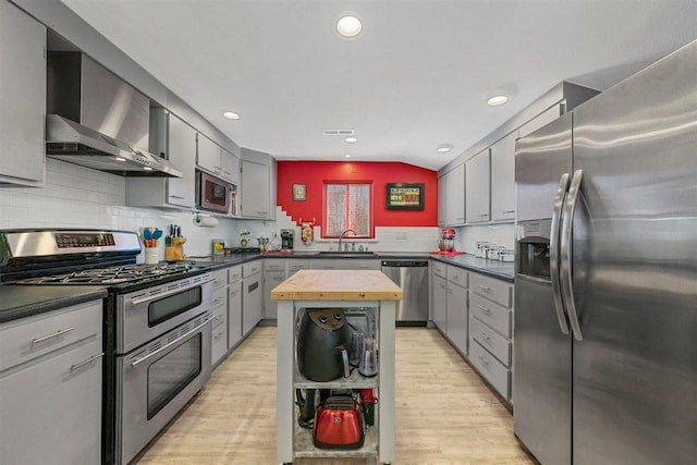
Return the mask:
[(697, 41), (518, 140), (514, 429), (697, 463)]

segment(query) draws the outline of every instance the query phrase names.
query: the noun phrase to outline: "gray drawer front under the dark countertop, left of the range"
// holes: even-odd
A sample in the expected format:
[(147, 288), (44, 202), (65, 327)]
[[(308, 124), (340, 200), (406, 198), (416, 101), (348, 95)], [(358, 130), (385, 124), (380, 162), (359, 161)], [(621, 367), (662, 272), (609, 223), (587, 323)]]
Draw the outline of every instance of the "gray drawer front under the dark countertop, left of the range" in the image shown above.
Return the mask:
[(102, 303), (88, 302), (0, 325), (0, 371), (86, 338), (101, 338)]

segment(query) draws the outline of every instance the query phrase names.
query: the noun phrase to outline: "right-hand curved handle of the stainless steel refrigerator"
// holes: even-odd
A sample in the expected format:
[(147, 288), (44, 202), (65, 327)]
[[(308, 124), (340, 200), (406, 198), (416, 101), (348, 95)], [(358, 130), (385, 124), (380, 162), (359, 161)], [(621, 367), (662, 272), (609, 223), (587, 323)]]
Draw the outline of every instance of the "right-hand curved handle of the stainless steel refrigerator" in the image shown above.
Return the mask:
[(578, 201), (578, 194), (580, 193), (580, 182), (583, 178), (583, 170), (574, 171), (574, 175), (571, 180), (571, 186), (568, 187), (568, 194), (566, 195), (564, 211), (562, 213), (561, 234), (561, 285), (564, 295), (564, 303), (566, 304), (566, 314), (568, 315), (571, 329), (574, 332), (576, 341), (583, 341), (584, 335), (580, 331), (578, 313), (576, 311), (576, 304), (574, 303), (574, 290), (572, 289), (571, 241), (574, 212), (576, 210), (576, 203)]

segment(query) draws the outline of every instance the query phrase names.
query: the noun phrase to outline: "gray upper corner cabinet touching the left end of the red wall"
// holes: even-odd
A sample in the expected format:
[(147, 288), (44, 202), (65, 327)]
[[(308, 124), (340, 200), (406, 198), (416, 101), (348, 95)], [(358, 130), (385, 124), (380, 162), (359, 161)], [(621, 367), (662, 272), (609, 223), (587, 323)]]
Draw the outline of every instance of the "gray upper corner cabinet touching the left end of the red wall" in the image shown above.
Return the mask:
[(271, 171), (268, 164), (241, 160), (241, 216), (269, 219), (271, 216)]

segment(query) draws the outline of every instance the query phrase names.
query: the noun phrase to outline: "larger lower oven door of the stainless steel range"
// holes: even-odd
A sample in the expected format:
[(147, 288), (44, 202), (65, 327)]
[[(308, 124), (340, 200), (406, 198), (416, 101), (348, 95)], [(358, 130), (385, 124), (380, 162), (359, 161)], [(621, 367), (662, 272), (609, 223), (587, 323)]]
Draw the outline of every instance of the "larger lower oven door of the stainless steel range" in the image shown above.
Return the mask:
[(211, 320), (205, 311), (117, 357), (117, 463), (133, 460), (210, 378)]

